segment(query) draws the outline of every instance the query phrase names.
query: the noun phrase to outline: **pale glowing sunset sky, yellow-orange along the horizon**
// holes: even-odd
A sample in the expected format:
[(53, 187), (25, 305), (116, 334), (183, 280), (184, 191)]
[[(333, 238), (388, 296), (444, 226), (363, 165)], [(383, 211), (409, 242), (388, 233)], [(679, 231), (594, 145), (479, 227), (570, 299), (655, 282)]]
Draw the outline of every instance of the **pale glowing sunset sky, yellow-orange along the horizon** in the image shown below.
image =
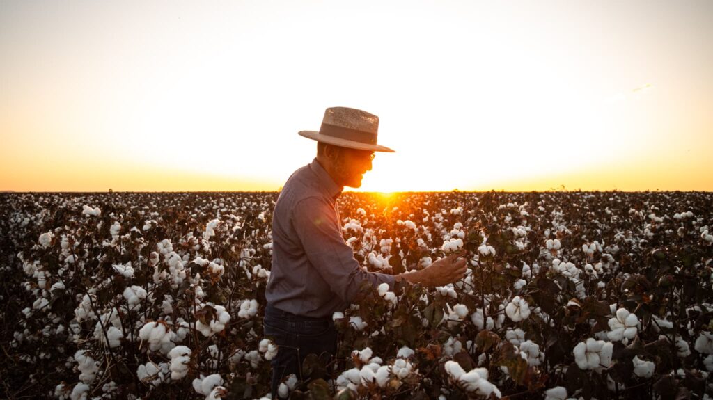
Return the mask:
[(0, 190), (713, 190), (713, 1), (0, 0)]

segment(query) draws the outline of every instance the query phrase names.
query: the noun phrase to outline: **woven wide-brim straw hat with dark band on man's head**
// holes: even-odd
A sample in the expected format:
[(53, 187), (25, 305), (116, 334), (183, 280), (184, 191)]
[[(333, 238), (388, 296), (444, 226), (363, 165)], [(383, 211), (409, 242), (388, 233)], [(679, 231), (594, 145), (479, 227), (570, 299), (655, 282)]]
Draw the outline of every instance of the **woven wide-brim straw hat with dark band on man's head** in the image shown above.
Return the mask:
[(389, 147), (376, 144), (378, 132), (379, 117), (376, 115), (356, 108), (329, 107), (324, 110), (319, 132), (302, 130), (299, 135), (349, 149), (394, 153)]

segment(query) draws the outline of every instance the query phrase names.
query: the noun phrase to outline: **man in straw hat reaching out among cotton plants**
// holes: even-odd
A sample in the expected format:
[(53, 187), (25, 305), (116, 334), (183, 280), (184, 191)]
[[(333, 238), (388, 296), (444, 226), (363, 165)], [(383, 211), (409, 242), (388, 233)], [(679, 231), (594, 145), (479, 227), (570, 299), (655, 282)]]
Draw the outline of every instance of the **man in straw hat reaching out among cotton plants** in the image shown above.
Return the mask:
[(327, 108), (317, 140), (317, 158), (297, 169), (279, 194), (272, 216), (272, 270), (265, 298), (265, 335), (274, 338), (272, 398), (289, 374), (302, 379), (307, 354), (337, 352), (332, 315), (355, 300), (360, 284), (388, 283), (400, 293), (404, 281), (440, 286), (463, 278), (466, 261), (449, 256), (415, 273), (386, 275), (362, 270), (342, 237), (337, 197), (344, 186), (359, 187), (371, 171), (374, 152), (394, 152), (376, 144), (379, 117), (347, 107)]

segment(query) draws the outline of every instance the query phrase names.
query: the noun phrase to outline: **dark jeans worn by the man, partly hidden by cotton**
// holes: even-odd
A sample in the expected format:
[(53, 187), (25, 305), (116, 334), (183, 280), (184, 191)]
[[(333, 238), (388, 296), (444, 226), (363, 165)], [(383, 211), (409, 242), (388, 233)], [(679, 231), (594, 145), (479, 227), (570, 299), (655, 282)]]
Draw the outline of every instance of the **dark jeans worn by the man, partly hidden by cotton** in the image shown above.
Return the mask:
[(299, 380), (308, 378), (302, 377), (302, 362), (307, 354), (329, 359), (337, 354), (337, 330), (332, 317), (301, 317), (268, 304), (264, 323), (265, 336), (277, 344), (277, 356), (270, 361), (272, 399), (277, 399), (277, 387), (289, 374), (297, 375)]

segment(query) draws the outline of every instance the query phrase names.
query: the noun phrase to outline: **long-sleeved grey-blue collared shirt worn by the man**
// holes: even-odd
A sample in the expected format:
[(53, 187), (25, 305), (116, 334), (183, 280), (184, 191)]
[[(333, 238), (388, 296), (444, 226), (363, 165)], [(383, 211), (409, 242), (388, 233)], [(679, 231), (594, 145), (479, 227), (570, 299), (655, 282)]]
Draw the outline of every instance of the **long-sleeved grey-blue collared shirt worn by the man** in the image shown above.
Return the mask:
[(344, 243), (337, 206), (342, 189), (317, 159), (284, 184), (272, 215), (272, 270), (265, 291), (273, 307), (328, 317), (349, 306), (364, 280), (394, 290), (393, 275), (362, 270)]

